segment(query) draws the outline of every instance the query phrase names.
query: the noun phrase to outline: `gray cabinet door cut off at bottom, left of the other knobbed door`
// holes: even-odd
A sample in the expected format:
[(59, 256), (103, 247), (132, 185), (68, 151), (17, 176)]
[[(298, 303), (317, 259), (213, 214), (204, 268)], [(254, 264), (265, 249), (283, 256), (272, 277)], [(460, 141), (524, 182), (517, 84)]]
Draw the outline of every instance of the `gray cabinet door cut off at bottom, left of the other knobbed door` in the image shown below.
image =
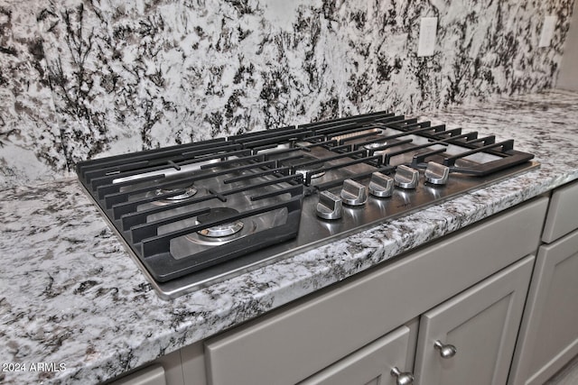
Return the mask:
[[(416, 335), (417, 328), (414, 329), (413, 334)], [(410, 328), (401, 326), (299, 384), (395, 385), (396, 377), (391, 374), (394, 368), (397, 368), (401, 376), (413, 377), (406, 372), (411, 365), (407, 355), (415, 349), (411, 344), (411, 336)]]

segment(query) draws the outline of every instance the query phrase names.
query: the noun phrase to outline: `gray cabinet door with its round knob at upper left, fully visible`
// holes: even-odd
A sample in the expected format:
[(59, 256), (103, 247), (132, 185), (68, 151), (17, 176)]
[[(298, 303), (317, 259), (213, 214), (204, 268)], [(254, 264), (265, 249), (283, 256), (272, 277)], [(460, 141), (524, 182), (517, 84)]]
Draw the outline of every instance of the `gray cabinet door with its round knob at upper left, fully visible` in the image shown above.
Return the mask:
[(506, 383), (533, 263), (518, 261), (422, 316), (417, 384)]

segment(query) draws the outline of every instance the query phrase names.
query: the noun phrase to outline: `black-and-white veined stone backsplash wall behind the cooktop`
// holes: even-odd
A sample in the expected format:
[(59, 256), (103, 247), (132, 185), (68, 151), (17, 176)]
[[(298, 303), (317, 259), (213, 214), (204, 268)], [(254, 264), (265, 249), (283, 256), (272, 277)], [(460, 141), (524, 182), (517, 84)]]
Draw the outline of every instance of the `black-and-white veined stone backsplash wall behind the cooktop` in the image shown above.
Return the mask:
[[(0, 188), (77, 160), (553, 87), (573, 0), (0, 1)], [(537, 48), (544, 16), (551, 47)], [(420, 17), (437, 46), (417, 58)]]

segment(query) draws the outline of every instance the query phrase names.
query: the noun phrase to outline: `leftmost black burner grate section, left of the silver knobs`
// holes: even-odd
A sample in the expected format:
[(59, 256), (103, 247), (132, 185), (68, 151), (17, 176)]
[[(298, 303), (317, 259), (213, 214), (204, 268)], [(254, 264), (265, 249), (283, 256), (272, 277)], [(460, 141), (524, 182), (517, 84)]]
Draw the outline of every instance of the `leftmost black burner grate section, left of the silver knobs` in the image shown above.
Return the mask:
[[(242, 146), (238, 143), (212, 142), (210, 146), (187, 146), (182, 152), (154, 151), (154, 162), (135, 162), (127, 156), (79, 163), (78, 172), (85, 188), (154, 279), (173, 280), (294, 238), (298, 232), (303, 177), (291, 175), (286, 167), (276, 167), (277, 162), (265, 160), (263, 154), (239, 148)], [(99, 162), (104, 165), (102, 169), (97, 167)], [(183, 184), (188, 187), (182, 188)], [(192, 186), (195, 195), (175, 198), (185, 195)], [(245, 205), (235, 215), (202, 223), (195, 219), (208, 214), (210, 206), (228, 201)], [(251, 205), (254, 207), (247, 208)], [(172, 255), (172, 242), (177, 238), (279, 210), (286, 213), (284, 221), (273, 221), (259, 234), (210, 248), (195, 246), (191, 255), (180, 259)], [(190, 219), (195, 219), (194, 223), (186, 222)], [(163, 226), (174, 223), (182, 225), (162, 234)]]

